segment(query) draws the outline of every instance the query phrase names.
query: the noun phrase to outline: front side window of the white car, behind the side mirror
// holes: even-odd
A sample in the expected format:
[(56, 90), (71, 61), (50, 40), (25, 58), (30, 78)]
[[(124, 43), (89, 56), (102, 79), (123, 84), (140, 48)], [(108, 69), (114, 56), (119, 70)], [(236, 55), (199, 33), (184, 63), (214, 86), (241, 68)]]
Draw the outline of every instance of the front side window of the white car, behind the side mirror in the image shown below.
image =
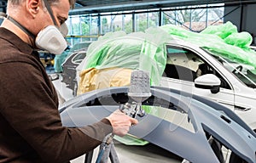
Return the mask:
[(211, 65), (207, 64), (204, 59), (186, 48), (178, 48), (166, 45), (167, 60), (164, 75), (166, 77), (179, 79), (183, 81), (195, 82), (199, 76), (214, 74), (218, 76), (223, 88), (231, 89), (228, 82), (214, 70)]

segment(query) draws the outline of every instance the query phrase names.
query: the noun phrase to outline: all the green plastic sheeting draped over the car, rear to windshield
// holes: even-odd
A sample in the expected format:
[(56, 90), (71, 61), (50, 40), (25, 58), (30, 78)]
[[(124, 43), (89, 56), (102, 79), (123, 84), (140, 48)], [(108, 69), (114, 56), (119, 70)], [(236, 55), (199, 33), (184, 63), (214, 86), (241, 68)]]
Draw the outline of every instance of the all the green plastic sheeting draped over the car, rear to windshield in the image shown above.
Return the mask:
[(223, 25), (210, 25), (200, 33), (177, 25), (163, 25), (131, 34), (125, 31), (108, 32), (90, 45), (84, 69), (123, 67), (147, 70), (150, 72), (151, 85), (157, 85), (166, 65), (164, 43), (172, 37), (256, 67), (256, 52), (249, 47), (252, 36), (247, 31), (238, 32), (236, 25), (228, 21)]

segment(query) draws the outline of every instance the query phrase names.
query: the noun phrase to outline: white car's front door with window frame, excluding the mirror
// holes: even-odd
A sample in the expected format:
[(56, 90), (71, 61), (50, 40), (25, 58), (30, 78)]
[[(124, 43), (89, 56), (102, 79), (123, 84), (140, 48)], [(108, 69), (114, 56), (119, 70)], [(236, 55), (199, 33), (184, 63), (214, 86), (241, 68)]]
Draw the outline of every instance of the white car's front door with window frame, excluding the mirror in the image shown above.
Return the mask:
[[(210, 60), (213, 58), (208, 53), (202, 55), (195, 49), (184, 46), (166, 45), (166, 51), (166, 69), (160, 86), (210, 98), (234, 110), (234, 90), (228, 79), (218, 70), (221, 64), (216, 65), (217, 60), (212, 63)], [(210, 89), (195, 87), (195, 79), (206, 74), (214, 74), (220, 79), (221, 85), (218, 93), (211, 93)]]

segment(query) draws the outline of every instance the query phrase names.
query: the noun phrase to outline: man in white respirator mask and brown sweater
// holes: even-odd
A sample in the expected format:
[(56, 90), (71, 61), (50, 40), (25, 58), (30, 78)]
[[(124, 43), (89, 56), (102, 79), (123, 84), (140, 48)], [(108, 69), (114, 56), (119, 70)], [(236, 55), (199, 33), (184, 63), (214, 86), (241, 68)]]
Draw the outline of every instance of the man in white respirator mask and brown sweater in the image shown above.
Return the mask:
[(116, 110), (90, 126), (61, 125), (57, 93), (34, 49), (66, 48), (58, 30), (74, 2), (48, 1), (9, 0), (0, 27), (0, 162), (68, 162), (96, 148), (108, 133), (124, 136), (137, 124)]

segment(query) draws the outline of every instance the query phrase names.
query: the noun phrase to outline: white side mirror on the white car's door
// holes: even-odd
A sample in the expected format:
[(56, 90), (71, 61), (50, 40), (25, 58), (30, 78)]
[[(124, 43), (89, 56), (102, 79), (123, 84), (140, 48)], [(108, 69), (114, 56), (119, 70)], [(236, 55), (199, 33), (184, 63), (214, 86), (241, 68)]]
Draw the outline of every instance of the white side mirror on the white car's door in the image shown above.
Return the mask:
[(219, 92), (220, 83), (219, 78), (213, 74), (206, 74), (195, 79), (195, 87), (210, 89), (214, 94)]

